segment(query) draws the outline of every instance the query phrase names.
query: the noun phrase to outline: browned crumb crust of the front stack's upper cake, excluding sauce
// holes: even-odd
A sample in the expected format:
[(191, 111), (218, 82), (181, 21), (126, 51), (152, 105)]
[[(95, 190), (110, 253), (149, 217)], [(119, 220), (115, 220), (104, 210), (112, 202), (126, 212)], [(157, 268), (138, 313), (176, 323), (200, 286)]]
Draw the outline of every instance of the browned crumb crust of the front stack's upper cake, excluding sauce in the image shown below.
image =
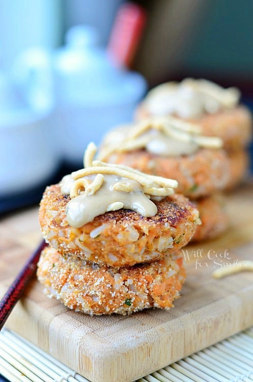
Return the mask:
[[(186, 245), (196, 229), (198, 211), (182, 195), (156, 202), (158, 213), (153, 217), (121, 209), (99, 215), (78, 229), (66, 221), (69, 200), (59, 185), (46, 188), (39, 211), (43, 237), (61, 253), (96, 263), (120, 267), (160, 259)], [(102, 225), (103, 232), (90, 237)]]

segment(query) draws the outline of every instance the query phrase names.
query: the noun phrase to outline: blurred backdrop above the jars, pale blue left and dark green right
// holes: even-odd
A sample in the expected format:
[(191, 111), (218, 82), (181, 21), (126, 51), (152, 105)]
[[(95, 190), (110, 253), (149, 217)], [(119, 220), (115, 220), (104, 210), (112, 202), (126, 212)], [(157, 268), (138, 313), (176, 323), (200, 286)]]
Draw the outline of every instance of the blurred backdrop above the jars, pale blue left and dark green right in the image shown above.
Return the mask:
[[(93, 25), (107, 47), (123, 0), (1, 0), (1, 64), (31, 46), (64, 44), (67, 30)], [(147, 20), (131, 66), (150, 86), (174, 76), (209, 76), (252, 92), (253, 3), (244, 0), (135, 1)]]

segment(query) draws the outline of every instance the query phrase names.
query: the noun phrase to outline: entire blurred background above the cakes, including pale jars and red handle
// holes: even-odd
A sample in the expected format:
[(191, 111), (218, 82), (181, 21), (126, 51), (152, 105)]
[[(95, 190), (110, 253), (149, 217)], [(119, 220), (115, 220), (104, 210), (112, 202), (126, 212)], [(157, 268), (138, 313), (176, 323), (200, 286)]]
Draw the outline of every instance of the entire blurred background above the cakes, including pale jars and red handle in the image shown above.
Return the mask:
[(159, 83), (204, 77), (238, 87), (253, 109), (251, 0), (0, 7), (0, 213), (38, 202)]

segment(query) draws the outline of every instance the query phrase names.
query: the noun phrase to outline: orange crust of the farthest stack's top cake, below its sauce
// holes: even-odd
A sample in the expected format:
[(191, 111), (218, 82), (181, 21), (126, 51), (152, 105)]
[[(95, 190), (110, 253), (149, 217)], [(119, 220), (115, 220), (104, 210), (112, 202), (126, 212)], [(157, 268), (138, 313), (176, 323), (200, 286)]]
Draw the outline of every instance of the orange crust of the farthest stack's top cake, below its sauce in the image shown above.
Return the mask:
[[(141, 103), (135, 113), (136, 120), (140, 121), (150, 116), (145, 108), (145, 102)], [(252, 116), (243, 105), (188, 121), (199, 124), (203, 135), (220, 137), (224, 142), (224, 149), (244, 147), (252, 139)]]

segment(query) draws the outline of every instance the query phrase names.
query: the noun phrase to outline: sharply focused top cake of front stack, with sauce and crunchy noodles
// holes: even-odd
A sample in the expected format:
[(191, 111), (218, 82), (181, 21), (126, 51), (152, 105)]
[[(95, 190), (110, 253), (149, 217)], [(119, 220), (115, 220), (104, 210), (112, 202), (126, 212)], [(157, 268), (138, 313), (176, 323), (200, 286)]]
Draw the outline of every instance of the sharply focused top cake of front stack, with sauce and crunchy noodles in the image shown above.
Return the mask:
[(39, 220), (61, 254), (113, 267), (151, 262), (188, 243), (199, 221), (195, 205), (174, 194), (173, 179), (93, 160), (46, 188)]

